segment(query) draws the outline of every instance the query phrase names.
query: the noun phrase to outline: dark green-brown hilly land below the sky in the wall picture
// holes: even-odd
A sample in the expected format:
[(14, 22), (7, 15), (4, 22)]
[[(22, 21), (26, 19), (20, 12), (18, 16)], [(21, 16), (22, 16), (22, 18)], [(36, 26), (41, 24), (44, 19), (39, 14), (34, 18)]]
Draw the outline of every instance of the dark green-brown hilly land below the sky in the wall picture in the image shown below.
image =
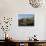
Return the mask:
[(22, 18), (18, 20), (19, 26), (33, 26), (34, 18)]

